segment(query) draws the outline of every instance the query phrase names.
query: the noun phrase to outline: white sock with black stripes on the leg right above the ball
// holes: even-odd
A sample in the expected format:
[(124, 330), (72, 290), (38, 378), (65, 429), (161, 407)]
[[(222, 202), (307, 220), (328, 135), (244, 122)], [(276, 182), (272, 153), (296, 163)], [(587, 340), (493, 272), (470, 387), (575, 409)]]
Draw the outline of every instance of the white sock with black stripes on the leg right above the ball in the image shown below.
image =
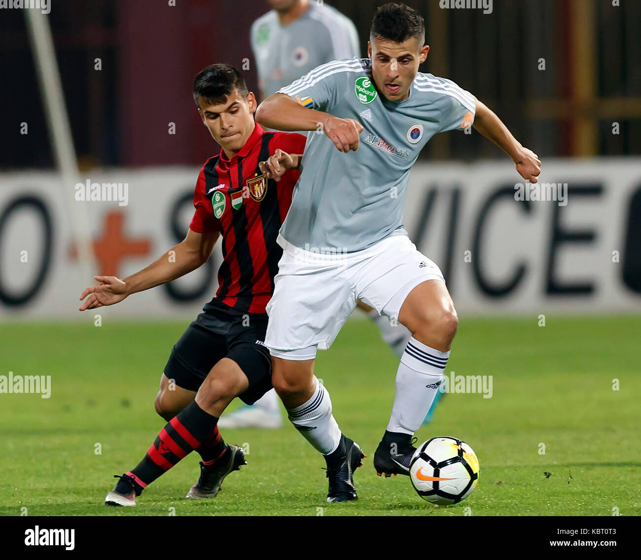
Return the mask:
[(389, 432), (413, 434), (419, 429), (443, 381), (447, 358), (449, 351), (440, 352), (410, 338), (396, 372)]

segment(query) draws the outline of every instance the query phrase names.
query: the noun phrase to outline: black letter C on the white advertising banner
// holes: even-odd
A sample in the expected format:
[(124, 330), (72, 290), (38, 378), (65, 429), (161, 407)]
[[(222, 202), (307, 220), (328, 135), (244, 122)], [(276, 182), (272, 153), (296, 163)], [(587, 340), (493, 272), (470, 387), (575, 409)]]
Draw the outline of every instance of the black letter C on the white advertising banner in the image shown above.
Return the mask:
[(481, 247), (483, 241), (483, 231), (485, 231), (485, 222), (490, 214), (492, 207), (501, 199), (512, 201), (520, 210), (531, 213), (532, 207), (530, 201), (515, 201), (514, 199), (514, 186), (502, 186), (495, 190), (483, 203), (479, 210), (478, 217), (476, 218), (476, 226), (474, 227), (473, 240), (472, 240), (472, 270), (474, 271), (474, 279), (483, 293), (490, 297), (503, 297), (512, 292), (522, 280), (526, 270), (525, 263), (518, 265), (512, 275), (511, 279), (504, 281), (502, 284), (492, 284), (485, 276), (483, 268), (481, 268)]

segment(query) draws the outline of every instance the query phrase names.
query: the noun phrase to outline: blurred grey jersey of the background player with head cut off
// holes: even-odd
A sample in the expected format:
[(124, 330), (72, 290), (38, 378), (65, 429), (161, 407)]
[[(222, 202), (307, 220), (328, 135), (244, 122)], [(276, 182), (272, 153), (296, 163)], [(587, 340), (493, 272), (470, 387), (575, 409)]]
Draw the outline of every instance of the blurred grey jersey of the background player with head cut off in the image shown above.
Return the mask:
[(267, 12), (252, 24), (250, 38), (265, 97), (321, 64), (359, 54), (358, 34), (351, 20), (315, 2), (285, 26), (274, 10)]

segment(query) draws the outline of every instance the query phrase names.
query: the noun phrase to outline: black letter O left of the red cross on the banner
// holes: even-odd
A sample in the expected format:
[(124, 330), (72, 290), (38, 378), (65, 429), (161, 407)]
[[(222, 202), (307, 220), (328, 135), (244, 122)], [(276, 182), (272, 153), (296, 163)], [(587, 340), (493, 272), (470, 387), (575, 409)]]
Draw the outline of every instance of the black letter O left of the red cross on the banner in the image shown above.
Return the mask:
[(13, 212), (22, 209), (35, 210), (40, 220), (42, 220), (44, 226), (44, 248), (35, 280), (30, 286), (24, 288), (21, 293), (10, 293), (6, 290), (2, 283), (2, 271), (0, 270), (0, 301), (7, 306), (21, 306), (35, 297), (40, 291), (40, 288), (42, 288), (47, 272), (49, 272), (49, 266), (51, 265), (53, 223), (49, 209), (45, 202), (37, 195), (21, 195), (9, 202), (8, 206), (4, 208), (0, 214), (0, 247), (3, 247), (2, 236), (4, 224), (6, 224)]

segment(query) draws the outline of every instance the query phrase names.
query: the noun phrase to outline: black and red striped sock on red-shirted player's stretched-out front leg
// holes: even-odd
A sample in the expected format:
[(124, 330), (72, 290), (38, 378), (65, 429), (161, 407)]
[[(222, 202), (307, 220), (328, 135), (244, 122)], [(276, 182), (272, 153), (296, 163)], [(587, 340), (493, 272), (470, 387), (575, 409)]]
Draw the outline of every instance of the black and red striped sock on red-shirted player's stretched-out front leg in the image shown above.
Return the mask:
[(208, 440), (217, 422), (216, 416), (206, 413), (195, 401), (192, 402), (165, 425), (144, 459), (126, 474), (134, 478), (140, 490), (146, 488), (147, 484)]

